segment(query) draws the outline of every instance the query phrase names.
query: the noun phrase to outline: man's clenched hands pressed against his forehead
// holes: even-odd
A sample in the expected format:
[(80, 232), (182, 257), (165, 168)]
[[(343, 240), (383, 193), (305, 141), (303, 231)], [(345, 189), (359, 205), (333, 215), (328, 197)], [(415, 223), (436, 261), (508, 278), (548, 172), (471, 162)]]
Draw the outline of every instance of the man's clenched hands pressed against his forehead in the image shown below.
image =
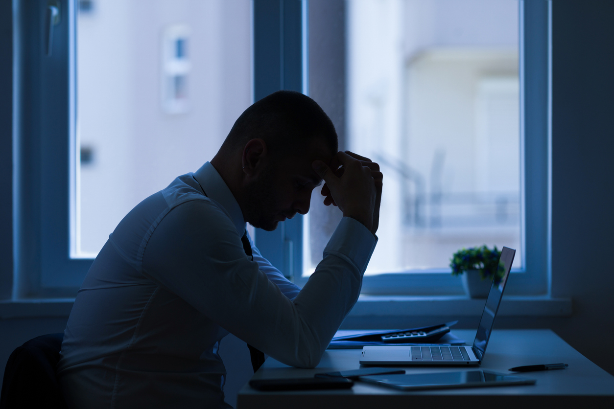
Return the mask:
[(314, 161), (313, 169), (324, 179), (325, 205), (335, 205), (375, 234), (379, 226), (383, 175), (379, 165), (350, 151), (338, 152), (328, 167)]

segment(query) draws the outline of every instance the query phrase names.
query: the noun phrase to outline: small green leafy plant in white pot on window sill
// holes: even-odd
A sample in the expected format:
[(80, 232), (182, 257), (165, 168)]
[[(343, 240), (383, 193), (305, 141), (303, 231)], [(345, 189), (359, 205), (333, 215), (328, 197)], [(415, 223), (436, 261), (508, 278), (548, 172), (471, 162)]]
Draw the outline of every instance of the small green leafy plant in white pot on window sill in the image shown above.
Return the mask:
[[(452, 275), (461, 274), (465, 292), (472, 298), (486, 298), (494, 278), (498, 284), (503, 277), (503, 264), (499, 262), (501, 252), (497, 246), (462, 248), (450, 259)], [(465, 274), (463, 274), (465, 273)]]

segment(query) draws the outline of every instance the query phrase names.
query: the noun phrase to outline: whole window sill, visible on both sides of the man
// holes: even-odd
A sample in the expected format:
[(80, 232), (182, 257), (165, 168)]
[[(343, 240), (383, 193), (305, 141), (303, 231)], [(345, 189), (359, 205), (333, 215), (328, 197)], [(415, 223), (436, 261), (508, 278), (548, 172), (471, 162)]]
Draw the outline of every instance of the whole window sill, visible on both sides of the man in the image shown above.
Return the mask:
[[(0, 301), (0, 319), (68, 317), (74, 299)], [(360, 296), (349, 317), (480, 316), (484, 299), (465, 296)], [(545, 296), (503, 297), (497, 316), (572, 315), (572, 300)]]

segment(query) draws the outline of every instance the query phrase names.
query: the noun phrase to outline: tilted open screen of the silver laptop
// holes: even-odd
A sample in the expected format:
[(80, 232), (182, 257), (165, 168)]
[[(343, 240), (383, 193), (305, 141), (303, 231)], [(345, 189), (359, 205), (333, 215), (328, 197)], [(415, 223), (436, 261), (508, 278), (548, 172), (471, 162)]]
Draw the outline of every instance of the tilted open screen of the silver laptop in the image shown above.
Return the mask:
[(478, 332), (475, 334), (475, 340), (473, 340), (473, 351), (475, 351), (476, 357), (480, 361), (482, 356), (484, 356), (484, 351), (486, 351), (488, 338), (491, 336), (492, 325), (495, 322), (497, 310), (499, 310), (503, 289), (505, 289), (505, 283), (507, 283), (507, 277), (510, 274), (511, 263), (514, 261), (515, 254), (516, 250), (511, 248), (503, 247), (501, 250), (499, 262), (503, 262), (503, 277), (498, 283), (495, 283), (497, 280), (492, 280), (491, 291), (488, 293)]

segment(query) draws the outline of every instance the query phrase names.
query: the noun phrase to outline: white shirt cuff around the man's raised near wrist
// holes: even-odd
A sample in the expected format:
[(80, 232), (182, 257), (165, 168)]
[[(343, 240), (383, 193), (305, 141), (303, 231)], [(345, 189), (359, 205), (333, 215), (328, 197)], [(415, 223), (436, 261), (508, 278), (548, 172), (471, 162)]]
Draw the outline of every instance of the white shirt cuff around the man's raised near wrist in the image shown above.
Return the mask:
[(377, 242), (377, 238), (364, 224), (344, 216), (324, 248), (324, 257), (327, 254), (335, 254), (349, 259), (362, 275), (367, 269)]

